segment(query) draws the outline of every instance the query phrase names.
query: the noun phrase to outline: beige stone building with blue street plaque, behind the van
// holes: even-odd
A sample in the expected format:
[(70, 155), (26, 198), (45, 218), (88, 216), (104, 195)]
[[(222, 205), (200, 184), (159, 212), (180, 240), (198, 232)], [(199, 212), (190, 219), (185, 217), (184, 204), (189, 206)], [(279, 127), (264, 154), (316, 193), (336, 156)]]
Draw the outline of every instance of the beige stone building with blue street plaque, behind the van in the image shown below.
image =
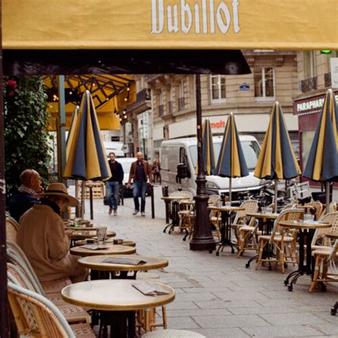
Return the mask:
[[(294, 51), (244, 51), (252, 73), (242, 76), (201, 75), (203, 119), (212, 133), (224, 132), (229, 113), (235, 114), (242, 134), (262, 140), (270, 112), (279, 101), (298, 154), (297, 116), (292, 97), (298, 92), (297, 54)], [(196, 135), (195, 76), (156, 74), (137, 76), (138, 101), (127, 107), (123, 129), (132, 126), (134, 151), (145, 148), (150, 160), (160, 156), (160, 143)], [(145, 99), (145, 95), (147, 98)], [(143, 113), (150, 132), (143, 134)], [(142, 119), (142, 122), (140, 121)], [(128, 136), (128, 135), (127, 135)], [(126, 135), (123, 136), (126, 140)]]

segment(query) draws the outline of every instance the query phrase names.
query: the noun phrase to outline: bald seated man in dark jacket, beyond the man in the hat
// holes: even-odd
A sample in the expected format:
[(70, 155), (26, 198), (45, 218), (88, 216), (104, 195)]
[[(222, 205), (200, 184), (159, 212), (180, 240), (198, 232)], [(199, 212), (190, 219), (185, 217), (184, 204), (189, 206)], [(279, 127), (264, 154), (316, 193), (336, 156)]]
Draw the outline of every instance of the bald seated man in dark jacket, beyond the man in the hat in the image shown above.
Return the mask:
[(33, 207), (34, 204), (40, 203), (35, 194), (42, 191), (41, 178), (37, 171), (33, 169), (26, 169), (20, 175), (21, 185), (19, 191), (11, 199), (9, 204), (9, 213), (18, 222), (24, 212)]

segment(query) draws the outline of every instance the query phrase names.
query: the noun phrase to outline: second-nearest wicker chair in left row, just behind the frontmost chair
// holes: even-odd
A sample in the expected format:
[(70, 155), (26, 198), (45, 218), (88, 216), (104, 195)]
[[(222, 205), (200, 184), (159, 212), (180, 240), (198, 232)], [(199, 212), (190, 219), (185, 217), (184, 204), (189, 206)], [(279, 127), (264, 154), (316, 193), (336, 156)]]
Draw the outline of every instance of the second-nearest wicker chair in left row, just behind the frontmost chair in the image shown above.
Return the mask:
[(19, 257), (16, 257), (13, 252), (8, 249), (7, 257), (9, 259), (9, 263), (7, 263), (7, 270), (11, 272), (11, 275), (13, 275), (16, 279), (16, 284), (19, 284), (21, 287), (25, 287), (27, 290), (39, 293), (39, 295), (51, 300), (51, 302), (53, 302), (53, 304), (55, 304), (63, 313), (69, 323), (91, 322), (91, 317), (86, 310), (82, 307), (68, 304), (61, 298), (60, 290), (56, 292), (49, 292), (48, 294), (43, 292), (43, 288), (41, 287), (39, 280), (35, 280), (34, 277), (30, 275), (29, 269), (27, 269), (24, 261), (22, 261)]

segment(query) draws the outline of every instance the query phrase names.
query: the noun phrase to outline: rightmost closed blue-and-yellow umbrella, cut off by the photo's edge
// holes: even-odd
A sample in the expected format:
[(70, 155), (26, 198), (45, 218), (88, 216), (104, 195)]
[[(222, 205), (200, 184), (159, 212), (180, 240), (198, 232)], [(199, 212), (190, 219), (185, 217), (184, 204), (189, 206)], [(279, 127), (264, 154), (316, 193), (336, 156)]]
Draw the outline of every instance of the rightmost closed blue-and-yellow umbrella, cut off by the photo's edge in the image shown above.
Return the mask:
[(327, 91), (319, 117), (304, 177), (325, 182), (327, 212), (329, 210), (329, 183), (338, 181), (338, 111), (332, 89)]

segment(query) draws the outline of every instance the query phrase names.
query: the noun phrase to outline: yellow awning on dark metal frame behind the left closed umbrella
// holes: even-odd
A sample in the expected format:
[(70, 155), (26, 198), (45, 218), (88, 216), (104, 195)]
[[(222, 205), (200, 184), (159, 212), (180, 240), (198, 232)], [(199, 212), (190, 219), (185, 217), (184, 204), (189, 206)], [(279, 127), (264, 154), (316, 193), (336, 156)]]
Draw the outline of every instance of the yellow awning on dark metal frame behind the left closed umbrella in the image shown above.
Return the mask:
[[(56, 77), (46, 76), (44, 82), (47, 92), (50, 93), (47, 110), (48, 113), (51, 113), (49, 130), (54, 131), (58, 116)], [(124, 74), (65, 76), (65, 89), (66, 98), (71, 101), (66, 103), (66, 130), (69, 130), (71, 116), (79, 104), (76, 100), (81, 99), (87, 89), (91, 91), (101, 130), (119, 130), (120, 119), (116, 116), (116, 112), (136, 100), (135, 81), (132, 76)]]

